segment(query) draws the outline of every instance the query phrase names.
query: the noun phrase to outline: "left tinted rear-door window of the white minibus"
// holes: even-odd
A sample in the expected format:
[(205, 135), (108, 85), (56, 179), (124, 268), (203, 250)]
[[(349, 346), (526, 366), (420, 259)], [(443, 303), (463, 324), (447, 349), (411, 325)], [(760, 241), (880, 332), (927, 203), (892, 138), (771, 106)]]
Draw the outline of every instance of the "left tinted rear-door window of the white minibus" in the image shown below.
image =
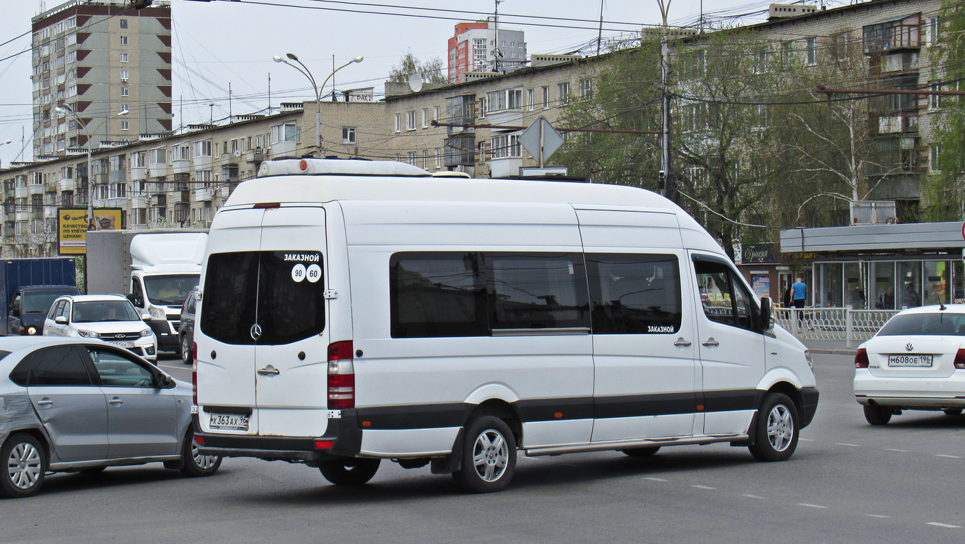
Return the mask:
[(207, 258), (201, 331), (214, 340), (251, 344), (258, 296), (258, 252), (216, 253)]

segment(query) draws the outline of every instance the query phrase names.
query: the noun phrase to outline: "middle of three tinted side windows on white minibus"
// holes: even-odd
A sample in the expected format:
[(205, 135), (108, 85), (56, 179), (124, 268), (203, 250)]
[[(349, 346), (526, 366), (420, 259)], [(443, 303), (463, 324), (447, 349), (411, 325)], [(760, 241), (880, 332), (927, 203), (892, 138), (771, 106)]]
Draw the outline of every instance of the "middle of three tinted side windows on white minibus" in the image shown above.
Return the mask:
[(484, 253), (492, 329), (590, 327), (582, 254)]

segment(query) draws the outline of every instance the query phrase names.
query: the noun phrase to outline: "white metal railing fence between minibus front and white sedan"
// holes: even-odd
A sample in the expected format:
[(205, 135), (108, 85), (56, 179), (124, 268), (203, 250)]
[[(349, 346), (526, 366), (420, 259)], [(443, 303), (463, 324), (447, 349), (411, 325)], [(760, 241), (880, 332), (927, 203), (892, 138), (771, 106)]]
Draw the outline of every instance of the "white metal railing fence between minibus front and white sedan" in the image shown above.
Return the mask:
[(868, 340), (899, 310), (844, 308), (775, 308), (774, 322), (799, 339)]

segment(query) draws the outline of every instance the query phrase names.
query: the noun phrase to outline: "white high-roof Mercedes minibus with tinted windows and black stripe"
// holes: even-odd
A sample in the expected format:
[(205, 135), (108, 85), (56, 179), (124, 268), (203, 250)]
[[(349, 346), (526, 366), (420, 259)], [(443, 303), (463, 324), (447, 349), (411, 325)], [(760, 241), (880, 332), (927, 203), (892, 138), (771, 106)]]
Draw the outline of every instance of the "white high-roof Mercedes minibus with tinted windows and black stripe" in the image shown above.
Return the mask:
[(208, 234), (202, 452), (343, 485), (429, 465), (489, 492), (517, 453), (724, 442), (785, 460), (813, 419), (804, 345), (659, 195), (391, 161), (259, 174)]

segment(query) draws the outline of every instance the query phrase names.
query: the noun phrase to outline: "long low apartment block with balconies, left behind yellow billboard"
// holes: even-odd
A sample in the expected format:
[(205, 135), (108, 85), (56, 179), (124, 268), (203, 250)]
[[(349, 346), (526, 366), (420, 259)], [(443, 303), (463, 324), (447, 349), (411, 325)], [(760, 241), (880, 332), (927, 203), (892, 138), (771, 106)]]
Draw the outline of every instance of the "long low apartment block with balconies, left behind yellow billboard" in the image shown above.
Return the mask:
[[(309, 115), (305, 115), (306, 108)], [(237, 184), (264, 160), (307, 156), (372, 158), (388, 138), (384, 105), (322, 102), (320, 154), (314, 100), (283, 103), (278, 113), (234, 116), (223, 125), (192, 125), (129, 144), (101, 142), (86, 152), (14, 163), (3, 180), (0, 258), (57, 255), (57, 208), (121, 208), (126, 229), (207, 228)]]

